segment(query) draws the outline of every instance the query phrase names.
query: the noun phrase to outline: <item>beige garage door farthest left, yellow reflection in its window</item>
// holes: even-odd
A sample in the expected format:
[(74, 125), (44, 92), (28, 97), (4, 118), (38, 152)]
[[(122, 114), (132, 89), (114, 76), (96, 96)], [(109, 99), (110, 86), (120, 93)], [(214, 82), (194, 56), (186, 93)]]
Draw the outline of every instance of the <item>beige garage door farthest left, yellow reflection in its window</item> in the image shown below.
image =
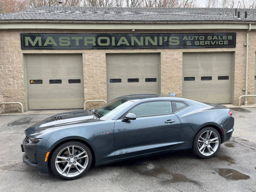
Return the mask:
[(28, 109), (83, 108), (82, 55), (26, 55)]

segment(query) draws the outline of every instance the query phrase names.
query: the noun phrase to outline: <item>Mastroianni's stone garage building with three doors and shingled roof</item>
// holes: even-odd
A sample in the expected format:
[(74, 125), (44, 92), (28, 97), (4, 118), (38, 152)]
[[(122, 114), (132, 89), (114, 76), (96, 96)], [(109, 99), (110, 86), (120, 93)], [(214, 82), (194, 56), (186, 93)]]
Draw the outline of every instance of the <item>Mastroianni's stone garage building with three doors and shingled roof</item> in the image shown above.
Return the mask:
[[(236, 105), (245, 94), (246, 58), (247, 94), (256, 91), (254, 10), (238, 10), (237, 18), (235, 9), (74, 9), (0, 15), (0, 102), (21, 102), (25, 110), (68, 109), (83, 108), (85, 100), (175, 92)], [(248, 18), (242, 18), (245, 11)], [(184, 14), (176, 18), (177, 12)]]

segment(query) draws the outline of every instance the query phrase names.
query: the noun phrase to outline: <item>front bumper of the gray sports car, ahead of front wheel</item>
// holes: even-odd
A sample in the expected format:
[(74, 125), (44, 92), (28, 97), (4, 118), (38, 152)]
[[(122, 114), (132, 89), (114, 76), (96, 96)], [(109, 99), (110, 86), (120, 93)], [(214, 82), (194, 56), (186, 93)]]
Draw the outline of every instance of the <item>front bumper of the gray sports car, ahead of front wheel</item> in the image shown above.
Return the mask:
[(39, 146), (37, 146), (37, 143), (33, 143), (30, 140), (26, 142), (26, 140), (22, 141), (21, 144), (21, 150), (23, 154), (23, 162), (38, 170), (39, 172), (42, 173), (48, 173), (48, 161), (44, 162), (45, 156), (47, 151), (43, 151)]

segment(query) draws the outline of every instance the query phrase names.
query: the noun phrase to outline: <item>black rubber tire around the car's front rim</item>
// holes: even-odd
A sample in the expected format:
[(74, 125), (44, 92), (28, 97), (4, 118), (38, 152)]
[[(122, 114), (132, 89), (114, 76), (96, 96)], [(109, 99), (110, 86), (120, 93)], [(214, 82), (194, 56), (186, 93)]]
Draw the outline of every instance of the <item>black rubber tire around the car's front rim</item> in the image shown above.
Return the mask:
[[(61, 150), (63, 150), (64, 148), (67, 148), (68, 146), (79, 146), (80, 148), (83, 148), (86, 151), (87, 156), (88, 156), (88, 159), (86, 160), (86, 162), (88, 162), (86, 168), (83, 170), (83, 172), (79, 173), (79, 175), (76, 175), (74, 177), (66, 177), (65, 175), (61, 175), (55, 167), (55, 159), (56, 159), (58, 153)], [(78, 161), (78, 159), (77, 159), (77, 161)], [(68, 163), (65, 162), (65, 164), (68, 164)], [(77, 141), (70, 141), (70, 142), (67, 142), (67, 143), (64, 143), (64, 144), (60, 145), (58, 148), (56, 148), (54, 150), (54, 152), (51, 156), (51, 170), (52, 170), (54, 175), (56, 175), (57, 177), (59, 177), (60, 179), (63, 179), (63, 180), (74, 180), (74, 179), (78, 179), (78, 178), (82, 177), (90, 169), (91, 165), (92, 165), (92, 152), (91, 152), (91, 150), (85, 144), (83, 144), (81, 142), (77, 142)], [(74, 170), (74, 168), (73, 168), (73, 170)]]

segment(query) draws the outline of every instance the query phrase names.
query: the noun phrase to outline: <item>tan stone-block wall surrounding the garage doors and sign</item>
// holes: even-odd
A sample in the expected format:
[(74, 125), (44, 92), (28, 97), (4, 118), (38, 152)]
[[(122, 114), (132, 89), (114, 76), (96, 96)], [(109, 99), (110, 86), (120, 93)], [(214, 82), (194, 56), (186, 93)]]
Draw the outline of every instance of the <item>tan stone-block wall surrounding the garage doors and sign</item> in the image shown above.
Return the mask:
[[(245, 92), (246, 30), (136, 30), (136, 33), (196, 33), (236, 32), (236, 48), (198, 49), (115, 49), (115, 50), (21, 50), (20, 33), (131, 33), (131, 30), (60, 30), (60, 29), (0, 29), (0, 86), (5, 102), (21, 102), (26, 110), (23, 54), (26, 53), (82, 53), (84, 67), (84, 99), (107, 100), (106, 54), (108, 53), (161, 53), (161, 93), (176, 92), (182, 96), (182, 54), (183, 52), (234, 52), (233, 104)], [(250, 32), (248, 91), (254, 93), (254, 68), (256, 31)], [(244, 99), (242, 100), (242, 104)], [(248, 98), (248, 104), (253, 98)], [(95, 108), (102, 103), (88, 103)], [(18, 111), (18, 105), (6, 105), (5, 112)]]

